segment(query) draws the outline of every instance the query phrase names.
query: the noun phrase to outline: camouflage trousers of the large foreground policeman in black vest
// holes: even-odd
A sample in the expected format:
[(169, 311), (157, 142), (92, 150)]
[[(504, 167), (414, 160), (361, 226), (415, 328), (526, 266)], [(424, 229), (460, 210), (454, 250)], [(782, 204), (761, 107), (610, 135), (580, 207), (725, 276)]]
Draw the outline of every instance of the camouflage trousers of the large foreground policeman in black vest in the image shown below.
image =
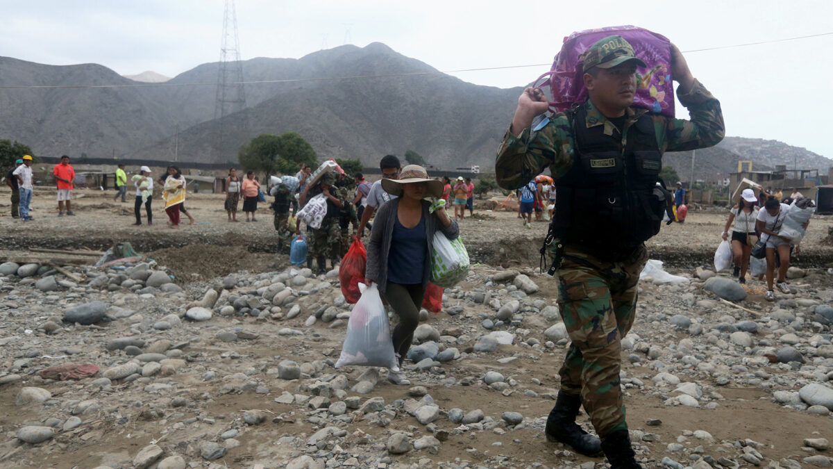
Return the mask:
[(558, 305), (571, 340), (558, 371), (561, 392), (581, 396), (600, 436), (627, 429), (620, 340), (633, 325), (637, 283), (647, 260), (644, 245), (616, 262), (567, 245), (558, 269)]

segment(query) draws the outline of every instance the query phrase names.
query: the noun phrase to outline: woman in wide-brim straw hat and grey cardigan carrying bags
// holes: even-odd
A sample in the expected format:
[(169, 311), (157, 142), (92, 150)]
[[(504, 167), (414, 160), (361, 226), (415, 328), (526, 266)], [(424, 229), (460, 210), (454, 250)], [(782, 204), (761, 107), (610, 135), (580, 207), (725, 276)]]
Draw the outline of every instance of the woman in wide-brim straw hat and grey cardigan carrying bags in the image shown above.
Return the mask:
[(398, 367), (387, 373), (388, 381), (409, 385), (402, 360), (407, 356), (413, 333), (419, 325), (419, 310), (431, 277), (431, 241), (437, 231), (449, 240), (460, 234), (456, 221), (444, 208), (429, 211), (426, 198), (442, 196), (442, 183), (429, 179), (416, 164), (402, 168), (399, 179), (382, 179), (382, 189), (397, 199), (382, 205), (373, 221), (367, 245), (367, 285), (376, 282), (379, 291), (399, 316), (393, 329), (393, 350)]

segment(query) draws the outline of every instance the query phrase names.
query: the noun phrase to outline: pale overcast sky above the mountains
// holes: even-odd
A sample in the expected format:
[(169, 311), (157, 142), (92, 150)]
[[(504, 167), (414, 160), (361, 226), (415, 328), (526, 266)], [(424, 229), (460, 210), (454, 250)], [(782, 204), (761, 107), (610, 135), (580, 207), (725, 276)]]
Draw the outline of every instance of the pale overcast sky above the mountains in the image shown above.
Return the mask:
[[(169, 77), (220, 58), (223, 0), (0, 0), (0, 54), (37, 63), (100, 63)], [(239, 0), (243, 59), (301, 58), (344, 43), (386, 43), (439, 70), (548, 64), (571, 32), (634, 24), (683, 51), (833, 32), (830, 0), (622, 3)], [(634, 6), (636, 8), (634, 8)], [(777, 139), (833, 158), (822, 124), (833, 104), (833, 35), (686, 53), (721, 100), (726, 134)], [(549, 68), (454, 73), (508, 88)], [(244, 69), (245, 73), (245, 69)], [(24, 84), (24, 83), (20, 83)], [(685, 116), (685, 112), (678, 115)]]

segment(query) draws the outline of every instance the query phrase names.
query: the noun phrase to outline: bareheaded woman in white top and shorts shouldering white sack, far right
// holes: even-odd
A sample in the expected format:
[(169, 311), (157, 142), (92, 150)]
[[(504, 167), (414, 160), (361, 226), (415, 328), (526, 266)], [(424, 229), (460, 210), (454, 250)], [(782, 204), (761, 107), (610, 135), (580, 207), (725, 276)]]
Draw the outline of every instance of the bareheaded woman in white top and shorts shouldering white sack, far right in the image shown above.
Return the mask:
[(790, 293), (790, 287), (786, 285), (786, 270), (790, 268), (790, 239), (778, 235), (781, 225), (784, 223), (786, 214), (790, 211), (790, 205), (781, 204), (775, 197), (766, 199), (764, 209), (758, 213), (758, 230), (761, 232), (761, 240), (766, 240), (766, 300), (775, 301), (776, 294), (772, 290), (773, 276), (776, 270), (776, 255), (781, 260), (778, 268), (778, 290), (781, 293)]

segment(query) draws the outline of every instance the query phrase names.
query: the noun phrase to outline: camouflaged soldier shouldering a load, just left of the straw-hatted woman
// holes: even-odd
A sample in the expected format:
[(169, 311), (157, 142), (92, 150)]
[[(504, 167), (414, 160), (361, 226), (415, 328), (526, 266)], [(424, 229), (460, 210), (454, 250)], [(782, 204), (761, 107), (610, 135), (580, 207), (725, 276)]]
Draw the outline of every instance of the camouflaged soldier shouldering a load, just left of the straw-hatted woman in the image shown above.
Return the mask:
[[(338, 224), (338, 219), (347, 201), (332, 185), (335, 181), (334, 174), (324, 174), (317, 184), (318, 187), (309, 191), (310, 196), (317, 192), (327, 197), (327, 215), (321, 222), (321, 228), (312, 229), (312, 236), (309, 236), (307, 240), (308, 255), (311, 259), (317, 260), (319, 274), (327, 272), (327, 258), (337, 260), (341, 254), (342, 229)], [(302, 194), (301, 204), (305, 204), (307, 199), (307, 193)], [(332, 265), (335, 264), (336, 262), (332, 262)]]

